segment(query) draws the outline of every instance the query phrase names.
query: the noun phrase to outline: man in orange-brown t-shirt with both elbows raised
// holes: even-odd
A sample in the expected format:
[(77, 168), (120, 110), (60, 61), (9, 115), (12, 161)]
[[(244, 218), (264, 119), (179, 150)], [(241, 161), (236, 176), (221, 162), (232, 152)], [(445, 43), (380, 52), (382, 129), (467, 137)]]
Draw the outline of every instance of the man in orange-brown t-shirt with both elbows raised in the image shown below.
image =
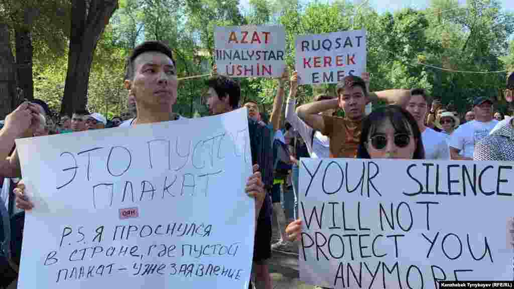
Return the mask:
[[(330, 157), (356, 157), (366, 104), (382, 99), (405, 107), (410, 99), (410, 91), (407, 89), (370, 93), (369, 79), (368, 73), (363, 73), (362, 78), (347, 76), (337, 86), (337, 98), (298, 107), (298, 116), (307, 125), (330, 138)], [(344, 111), (344, 118), (319, 114), (338, 108)]]

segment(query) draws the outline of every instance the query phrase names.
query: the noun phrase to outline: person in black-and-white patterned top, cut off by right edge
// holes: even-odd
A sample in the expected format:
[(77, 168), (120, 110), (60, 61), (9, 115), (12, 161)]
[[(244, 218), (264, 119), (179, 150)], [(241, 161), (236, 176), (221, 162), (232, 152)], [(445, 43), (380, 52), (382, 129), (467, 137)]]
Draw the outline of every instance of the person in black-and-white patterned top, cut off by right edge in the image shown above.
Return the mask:
[[(505, 100), (514, 109), (514, 73), (507, 76)], [(476, 144), (473, 160), (514, 160), (513, 118), (505, 118), (491, 131), (491, 134)]]

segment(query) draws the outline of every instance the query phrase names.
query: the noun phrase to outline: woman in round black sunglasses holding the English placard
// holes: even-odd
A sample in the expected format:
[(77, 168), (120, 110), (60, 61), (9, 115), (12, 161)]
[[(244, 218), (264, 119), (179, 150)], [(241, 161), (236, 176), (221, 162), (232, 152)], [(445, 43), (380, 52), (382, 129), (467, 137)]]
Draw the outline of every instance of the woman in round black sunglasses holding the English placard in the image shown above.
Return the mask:
[[(377, 109), (362, 122), (357, 158), (425, 159), (421, 132), (414, 117), (398, 105)], [(302, 221), (286, 228), (289, 241), (299, 240)]]

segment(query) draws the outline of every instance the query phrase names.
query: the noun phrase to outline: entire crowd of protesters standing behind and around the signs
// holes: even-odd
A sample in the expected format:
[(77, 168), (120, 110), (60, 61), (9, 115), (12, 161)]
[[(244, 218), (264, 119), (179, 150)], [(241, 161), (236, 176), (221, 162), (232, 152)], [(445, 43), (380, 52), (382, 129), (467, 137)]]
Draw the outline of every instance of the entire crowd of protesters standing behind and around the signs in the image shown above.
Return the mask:
[[(269, 119), (264, 119), (261, 114), (260, 103), (248, 101), (242, 104), (248, 109), (254, 171), (245, 188), (245, 193), (255, 198), (252, 286), (272, 288), (267, 263), (272, 250), (298, 250), (301, 233), (298, 179), (302, 157), (514, 159), (514, 125), (511, 118), (503, 119), (494, 113), (492, 99), (476, 97), (472, 110), (461, 120), (453, 105), (444, 107), (440, 101), (432, 101), (424, 89), (370, 92), (370, 81), (370, 75), (366, 73), (361, 77), (347, 76), (338, 84), (336, 96), (318, 95), (314, 102), (297, 106), (299, 76), (286, 70), (278, 78)], [(286, 84), (289, 84), (289, 94), (285, 115), (282, 115)], [(71, 118), (54, 119), (48, 105), (40, 100), (24, 102), (6, 117), (0, 131), (0, 159), (3, 160), (0, 173), (5, 177), (1, 195), (3, 206), (0, 207), (8, 212), (11, 220), (19, 222), (24, 210), (33, 208), (23, 180), (20, 181), (22, 176), (14, 139), (161, 121), (188, 121), (173, 112), (173, 104), (180, 96), (177, 96), (173, 54), (166, 45), (144, 42), (136, 47), (128, 60), (124, 85), (129, 109), (110, 121), (99, 113), (84, 111), (76, 111)], [(211, 115), (241, 107), (240, 85), (234, 79), (217, 75), (215, 68), (206, 82), (206, 91), (204, 100)], [(514, 74), (510, 74), (504, 93), (509, 103), (513, 92)], [(373, 112), (366, 114), (366, 104), (378, 100), (389, 104), (375, 107)], [(336, 116), (338, 111), (342, 111), (344, 117)], [(273, 221), (278, 228), (275, 240), (272, 238)], [(4, 218), (5, 222), (9, 221)], [(7, 256), (15, 278), (20, 256), (13, 248), (20, 246), (20, 230), (23, 229), (13, 221), (10, 224), (12, 254), (4, 250), (4, 256)], [(0, 238), (2, 240), (6, 238)], [(13, 284), (15, 286), (15, 281)]]

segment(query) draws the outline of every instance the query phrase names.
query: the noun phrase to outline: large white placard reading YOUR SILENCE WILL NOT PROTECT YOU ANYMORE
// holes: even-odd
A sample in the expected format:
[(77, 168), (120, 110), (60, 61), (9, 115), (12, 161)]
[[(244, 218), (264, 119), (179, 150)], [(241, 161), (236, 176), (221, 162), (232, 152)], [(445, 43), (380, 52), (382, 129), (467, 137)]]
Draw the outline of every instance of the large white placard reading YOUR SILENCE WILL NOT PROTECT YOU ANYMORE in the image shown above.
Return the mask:
[(427, 289), (512, 280), (513, 165), (302, 158), (301, 280)]

